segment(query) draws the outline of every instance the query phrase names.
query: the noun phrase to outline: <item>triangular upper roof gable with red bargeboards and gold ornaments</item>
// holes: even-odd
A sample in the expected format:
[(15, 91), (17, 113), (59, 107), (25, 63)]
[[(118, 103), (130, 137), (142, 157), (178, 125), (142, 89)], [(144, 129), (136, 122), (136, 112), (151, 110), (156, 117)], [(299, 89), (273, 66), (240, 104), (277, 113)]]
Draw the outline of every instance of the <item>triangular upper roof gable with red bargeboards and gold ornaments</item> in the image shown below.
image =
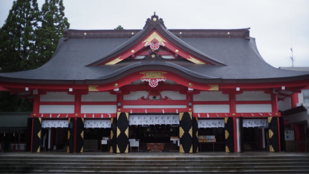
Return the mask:
[(157, 15), (147, 19), (144, 29), (90, 66), (113, 65), (125, 59), (187, 59), (196, 64), (225, 65), (193, 48), (168, 31)]

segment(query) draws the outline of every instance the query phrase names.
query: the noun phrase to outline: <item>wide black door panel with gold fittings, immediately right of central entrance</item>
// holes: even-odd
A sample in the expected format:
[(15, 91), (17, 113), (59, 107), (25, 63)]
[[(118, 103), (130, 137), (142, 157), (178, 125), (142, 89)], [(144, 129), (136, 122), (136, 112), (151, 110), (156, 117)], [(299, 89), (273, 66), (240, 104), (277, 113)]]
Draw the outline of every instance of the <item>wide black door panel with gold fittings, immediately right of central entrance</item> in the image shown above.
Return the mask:
[[(192, 112), (179, 113), (179, 138), (180, 153), (193, 153)], [(194, 152), (196, 152), (196, 150), (194, 150)]]

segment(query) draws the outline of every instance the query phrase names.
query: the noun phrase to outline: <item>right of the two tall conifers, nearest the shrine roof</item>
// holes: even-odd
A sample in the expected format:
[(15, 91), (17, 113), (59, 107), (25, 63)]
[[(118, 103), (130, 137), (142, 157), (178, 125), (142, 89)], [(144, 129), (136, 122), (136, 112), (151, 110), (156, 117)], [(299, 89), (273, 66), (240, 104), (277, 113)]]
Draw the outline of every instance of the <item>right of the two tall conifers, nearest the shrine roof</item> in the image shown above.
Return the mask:
[(42, 25), (37, 30), (36, 49), (38, 50), (36, 63), (41, 66), (54, 54), (58, 40), (63, 37), (66, 28), (70, 27), (64, 14), (62, 0), (45, 0), (42, 6)]

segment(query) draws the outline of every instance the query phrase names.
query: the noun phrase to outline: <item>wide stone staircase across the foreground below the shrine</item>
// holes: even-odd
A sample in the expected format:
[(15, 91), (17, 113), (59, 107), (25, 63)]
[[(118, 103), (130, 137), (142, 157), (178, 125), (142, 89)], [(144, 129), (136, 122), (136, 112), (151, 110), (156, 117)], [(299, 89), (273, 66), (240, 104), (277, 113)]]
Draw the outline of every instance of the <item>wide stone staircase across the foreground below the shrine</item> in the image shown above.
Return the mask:
[(24, 154), (0, 155), (0, 173), (309, 173), (308, 155), (288, 153), (277, 153), (280, 155), (275, 156), (269, 153), (134, 153), (132, 156)]

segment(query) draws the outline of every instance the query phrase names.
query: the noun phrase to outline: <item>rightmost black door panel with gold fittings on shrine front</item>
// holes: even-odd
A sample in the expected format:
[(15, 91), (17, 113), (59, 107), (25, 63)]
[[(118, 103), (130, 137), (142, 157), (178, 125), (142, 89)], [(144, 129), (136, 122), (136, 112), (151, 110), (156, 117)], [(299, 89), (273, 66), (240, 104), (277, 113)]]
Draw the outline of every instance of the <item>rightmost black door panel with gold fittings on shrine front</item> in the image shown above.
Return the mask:
[(269, 151), (279, 152), (278, 118), (268, 117)]

